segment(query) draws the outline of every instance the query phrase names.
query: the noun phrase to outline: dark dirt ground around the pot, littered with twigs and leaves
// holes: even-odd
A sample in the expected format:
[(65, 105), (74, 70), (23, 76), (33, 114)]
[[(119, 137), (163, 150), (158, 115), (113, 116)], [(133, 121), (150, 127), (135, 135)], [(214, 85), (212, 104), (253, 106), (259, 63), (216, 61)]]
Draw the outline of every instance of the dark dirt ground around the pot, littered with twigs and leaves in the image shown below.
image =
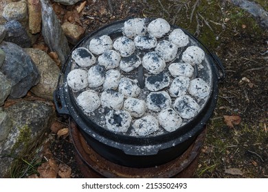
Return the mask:
[[(218, 104), (207, 123), (205, 143), (193, 177), (268, 177), (267, 29), (261, 28), (251, 14), (228, 1), (86, 2), (80, 13), (76, 9), (82, 8), (82, 3), (52, 5), (62, 22), (80, 25), (86, 34), (120, 19), (161, 17), (188, 30), (216, 53), (226, 75), (219, 84)], [(256, 2), (268, 10), (268, 1)], [(54, 128), (68, 128), (66, 117), (59, 116), (58, 122)], [(67, 165), (71, 169), (69, 177), (82, 178), (68, 134), (53, 133), (52, 128), (47, 136), (43, 160), (52, 158), (56, 165)]]

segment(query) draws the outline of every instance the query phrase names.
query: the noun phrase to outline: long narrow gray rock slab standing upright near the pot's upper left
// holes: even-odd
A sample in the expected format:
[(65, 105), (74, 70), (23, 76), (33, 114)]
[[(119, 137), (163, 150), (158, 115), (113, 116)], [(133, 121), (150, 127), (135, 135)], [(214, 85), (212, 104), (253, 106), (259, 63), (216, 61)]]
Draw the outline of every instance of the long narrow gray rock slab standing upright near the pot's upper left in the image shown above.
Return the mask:
[(42, 34), (49, 49), (58, 54), (61, 63), (64, 63), (69, 54), (69, 45), (67, 38), (63, 33), (54, 10), (49, 1), (41, 0), (42, 8)]

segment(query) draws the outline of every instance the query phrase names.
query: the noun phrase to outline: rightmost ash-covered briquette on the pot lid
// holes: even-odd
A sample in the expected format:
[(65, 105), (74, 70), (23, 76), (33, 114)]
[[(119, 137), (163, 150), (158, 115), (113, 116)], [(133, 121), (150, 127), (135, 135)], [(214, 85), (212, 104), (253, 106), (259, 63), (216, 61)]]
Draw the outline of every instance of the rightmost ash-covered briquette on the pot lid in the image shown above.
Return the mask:
[(201, 78), (196, 78), (190, 82), (188, 92), (194, 97), (203, 99), (210, 95), (210, 86)]

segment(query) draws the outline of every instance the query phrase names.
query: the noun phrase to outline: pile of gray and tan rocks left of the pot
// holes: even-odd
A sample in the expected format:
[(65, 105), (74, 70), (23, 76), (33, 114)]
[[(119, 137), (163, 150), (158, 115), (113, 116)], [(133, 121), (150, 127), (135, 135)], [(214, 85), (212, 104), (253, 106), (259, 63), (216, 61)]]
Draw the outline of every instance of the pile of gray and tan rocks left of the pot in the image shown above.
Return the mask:
[[(55, 0), (64, 5), (78, 1)], [(10, 177), (16, 159), (42, 141), (55, 117), (52, 101), (60, 69), (45, 51), (32, 45), (43, 36), (63, 64), (69, 43), (76, 44), (84, 32), (71, 23), (62, 26), (49, 0), (1, 0), (0, 178)], [(29, 93), (41, 99), (27, 99)]]

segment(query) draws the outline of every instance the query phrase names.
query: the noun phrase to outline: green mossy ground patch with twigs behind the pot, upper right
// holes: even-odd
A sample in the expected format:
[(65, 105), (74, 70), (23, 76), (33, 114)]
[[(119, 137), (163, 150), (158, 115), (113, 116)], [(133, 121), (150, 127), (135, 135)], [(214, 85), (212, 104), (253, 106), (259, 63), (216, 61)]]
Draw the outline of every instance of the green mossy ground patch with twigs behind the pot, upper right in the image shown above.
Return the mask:
[(225, 39), (237, 36), (263, 36), (264, 30), (242, 8), (230, 3), (221, 8), (219, 1), (153, 1), (144, 16), (162, 17), (168, 22), (186, 29), (206, 45), (216, 49)]

